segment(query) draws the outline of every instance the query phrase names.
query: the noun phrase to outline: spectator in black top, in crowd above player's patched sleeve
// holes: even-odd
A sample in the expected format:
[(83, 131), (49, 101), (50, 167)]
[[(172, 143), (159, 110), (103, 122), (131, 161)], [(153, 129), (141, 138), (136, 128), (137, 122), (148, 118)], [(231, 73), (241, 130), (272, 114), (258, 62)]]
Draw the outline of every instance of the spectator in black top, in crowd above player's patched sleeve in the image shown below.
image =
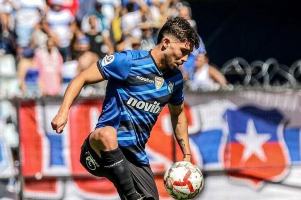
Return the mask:
[(90, 40), (90, 51), (96, 53), (101, 59), (105, 55), (112, 54), (114, 47), (110, 39), (110, 32), (108, 30), (102, 32), (97, 30), (97, 16), (95, 15), (90, 15), (89, 24), (91, 29), (85, 35)]

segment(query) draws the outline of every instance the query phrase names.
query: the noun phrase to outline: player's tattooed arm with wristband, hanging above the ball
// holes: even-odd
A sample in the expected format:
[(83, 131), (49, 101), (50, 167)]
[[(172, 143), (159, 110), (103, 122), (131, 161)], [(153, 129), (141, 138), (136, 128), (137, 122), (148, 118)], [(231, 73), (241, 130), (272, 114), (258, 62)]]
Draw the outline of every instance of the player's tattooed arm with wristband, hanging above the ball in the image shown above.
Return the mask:
[(172, 128), (175, 132), (175, 138), (177, 139), (178, 145), (180, 146), (183, 155), (183, 161), (191, 162), (191, 151), (189, 146), (189, 137), (188, 137), (188, 125), (187, 119), (184, 112), (184, 103), (181, 105), (175, 106), (172, 104), (168, 104)]

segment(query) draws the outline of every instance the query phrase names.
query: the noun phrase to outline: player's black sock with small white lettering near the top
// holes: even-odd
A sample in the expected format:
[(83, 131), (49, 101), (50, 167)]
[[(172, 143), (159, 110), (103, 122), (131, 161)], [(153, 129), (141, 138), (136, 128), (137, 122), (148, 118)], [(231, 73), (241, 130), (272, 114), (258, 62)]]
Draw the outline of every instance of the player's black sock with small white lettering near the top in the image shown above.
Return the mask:
[[(136, 193), (130, 165), (119, 147), (111, 151), (101, 151), (101, 159), (104, 161), (104, 168), (110, 173), (114, 184), (121, 190), (128, 200), (139, 199)], [(139, 195), (139, 196), (137, 196)]]

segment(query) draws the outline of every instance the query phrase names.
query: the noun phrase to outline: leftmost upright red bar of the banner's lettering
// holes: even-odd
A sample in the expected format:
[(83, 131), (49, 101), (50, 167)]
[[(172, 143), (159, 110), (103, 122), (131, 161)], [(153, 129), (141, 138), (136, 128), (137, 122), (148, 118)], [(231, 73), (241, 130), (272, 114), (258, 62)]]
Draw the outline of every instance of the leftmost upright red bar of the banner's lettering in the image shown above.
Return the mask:
[(35, 101), (22, 102), (19, 109), (22, 175), (42, 172), (42, 138), (38, 133)]

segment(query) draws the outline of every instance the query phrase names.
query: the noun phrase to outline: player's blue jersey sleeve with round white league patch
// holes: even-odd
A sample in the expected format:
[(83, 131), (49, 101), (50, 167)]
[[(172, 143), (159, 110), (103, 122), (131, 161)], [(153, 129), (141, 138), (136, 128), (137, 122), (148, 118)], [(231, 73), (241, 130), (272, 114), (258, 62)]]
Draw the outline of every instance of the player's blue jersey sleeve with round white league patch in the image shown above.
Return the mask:
[(125, 80), (133, 63), (130, 51), (115, 52), (97, 62), (98, 70), (107, 79)]

